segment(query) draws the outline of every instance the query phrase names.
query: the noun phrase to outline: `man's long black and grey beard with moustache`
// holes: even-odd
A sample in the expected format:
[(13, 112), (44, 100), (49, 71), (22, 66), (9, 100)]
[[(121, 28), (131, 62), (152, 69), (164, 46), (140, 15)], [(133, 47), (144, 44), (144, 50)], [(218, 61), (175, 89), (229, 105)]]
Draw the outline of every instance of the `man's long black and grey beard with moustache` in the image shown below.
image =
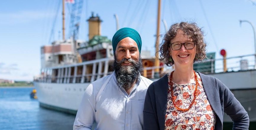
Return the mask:
[[(124, 61), (130, 61), (132, 65), (122, 66), (121, 64)], [(134, 84), (134, 82), (136, 82), (136, 80), (140, 75), (139, 73), (142, 70), (141, 57), (139, 57), (139, 61), (136, 62), (132, 58), (130, 59), (123, 58), (121, 61), (117, 61), (115, 56), (113, 67), (115, 70), (117, 84), (126, 90), (132, 87), (132, 85)]]

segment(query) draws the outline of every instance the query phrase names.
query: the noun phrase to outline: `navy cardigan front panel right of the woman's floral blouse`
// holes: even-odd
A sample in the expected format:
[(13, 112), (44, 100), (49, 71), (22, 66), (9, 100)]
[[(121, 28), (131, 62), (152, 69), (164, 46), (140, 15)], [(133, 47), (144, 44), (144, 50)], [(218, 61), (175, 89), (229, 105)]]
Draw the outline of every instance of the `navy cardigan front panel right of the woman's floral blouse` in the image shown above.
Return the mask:
[(218, 87), (216, 87), (218, 84), (216, 84), (213, 81), (213, 79), (210, 78), (210, 76), (206, 76), (200, 72), (198, 72), (198, 73), (201, 77), (201, 80), (202, 80), (207, 98), (209, 100), (209, 103), (210, 103), (213, 111), (216, 113), (216, 115), (220, 119), (221, 124), (222, 124), (223, 116), (222, 116), (222, 109), (221, 109), (221, 103), (220, 103), (220, 95), (219, 95), (219, 91), (216, 90), (216, 88), (218, 88)]

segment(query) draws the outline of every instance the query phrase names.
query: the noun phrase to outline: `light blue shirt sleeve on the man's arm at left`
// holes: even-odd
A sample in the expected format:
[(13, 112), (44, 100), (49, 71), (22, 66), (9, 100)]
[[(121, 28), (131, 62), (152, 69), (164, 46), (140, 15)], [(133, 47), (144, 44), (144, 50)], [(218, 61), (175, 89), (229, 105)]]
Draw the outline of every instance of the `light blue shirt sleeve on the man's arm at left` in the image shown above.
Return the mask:
[(91, 130), (95, 121), (96, 97), (93, 85), (90, 84), (83, 95), (81, 104), (76, 113), (73, 130)]

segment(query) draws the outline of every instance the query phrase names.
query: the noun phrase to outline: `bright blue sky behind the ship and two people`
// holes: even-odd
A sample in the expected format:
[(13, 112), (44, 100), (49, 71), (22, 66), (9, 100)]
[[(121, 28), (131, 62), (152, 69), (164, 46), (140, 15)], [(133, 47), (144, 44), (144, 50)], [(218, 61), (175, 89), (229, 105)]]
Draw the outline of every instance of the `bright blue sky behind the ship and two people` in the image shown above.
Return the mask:
[[(226, 49), (227, 56), (253, 54), (252, 27), (256, 26), (256, 6), (250, 0), (162, 0), (161, 19), (168, 27), (176, 22), (197, 22), (205, 32), (207, 52)], [(59, 39), (61, 7), (56, 17), (54, 37), (50, 39), (59, 0), (11, 0), (0, 5), (0, 78), (32, 81), (40, 71), (40, 47)], [(69, 28), (71, 5), (66, 4), (66, 28)], [(156, 41), (157, 0), (88, 0), (83, 2), (79, 39), (88, 40), (86, 19), (91, 12), (103, 20), (102, 35), (112, 39), (116, 31), (114, 14), (120, 27), (136, 29), (142, 38), (142, 50), (152, 51)], [(161, 22), (160, 33), (165, 28)], [(68, 37), (68, 33), (66, 35)]]

